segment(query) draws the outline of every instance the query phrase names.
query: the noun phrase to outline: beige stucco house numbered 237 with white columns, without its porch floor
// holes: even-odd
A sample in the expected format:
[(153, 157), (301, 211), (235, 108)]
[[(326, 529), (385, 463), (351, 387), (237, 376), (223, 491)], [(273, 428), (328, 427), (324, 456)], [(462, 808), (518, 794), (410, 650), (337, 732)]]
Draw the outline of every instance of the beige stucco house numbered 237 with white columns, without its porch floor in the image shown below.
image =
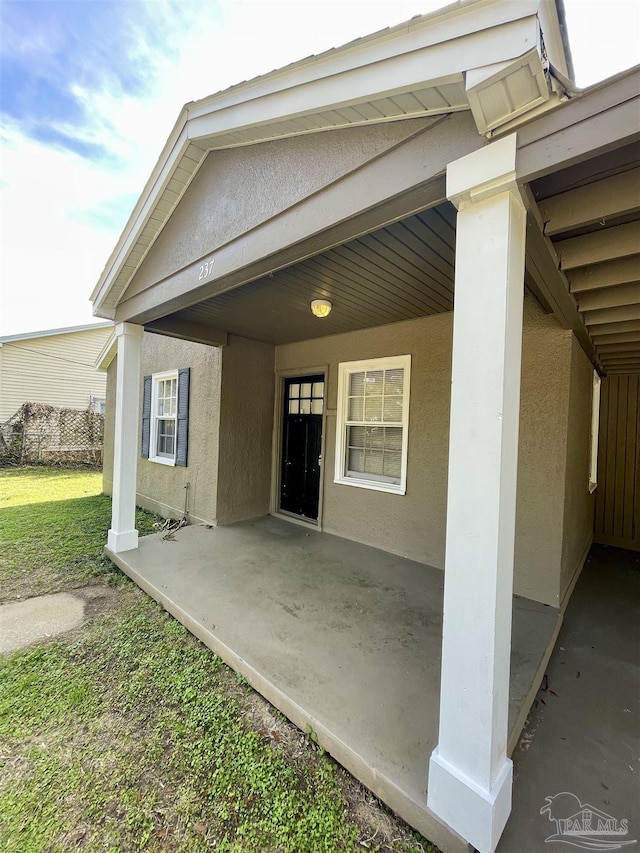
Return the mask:
[(367, 777), (444, 849), (509, 815), (512, 592), (640, 547), (640, 79), (570, 77), (560, 0), (477, 0), (188, 104), (93, 293), (118, 565), (137, 499), (444, 569), (429, 772)]

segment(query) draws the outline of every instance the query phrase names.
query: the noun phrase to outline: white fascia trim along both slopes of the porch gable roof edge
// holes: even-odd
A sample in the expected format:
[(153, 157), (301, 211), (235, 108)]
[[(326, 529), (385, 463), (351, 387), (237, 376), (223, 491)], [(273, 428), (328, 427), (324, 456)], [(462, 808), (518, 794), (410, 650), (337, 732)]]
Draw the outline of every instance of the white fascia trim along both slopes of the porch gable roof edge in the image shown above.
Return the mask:
[[(347, 45), (325, 58), (303, 60), (281, 72), (187, 104), (93, 289), (94, 312), (111, 313), (102, 303), (190, 142), (197, 144), (213, 134), (245, 126), (286, 121), (302, 112), (330, 109), (335, 103), (344, 106), (375, 94), (383, 96), (390, 90), (420, 85), (416, 81), (443, 81), (461, 73), (461, 65), (468, 68), (498, 62), (505, 53), (524, 53), (531, 46), (529, 40), (537, 42), (539, 2), (470, 0), (383, 31), (382, 36), (374, 34), (356, 42), (355, 47)], [(465, 41), (464, 49), (455, 44), (460, 38)], [(430, 48), (426, 56), (425, 48)], [(363, 65), (365, 61), (367, 65)], [(372, 67), (374, 62), (376, 66)], [(274, 91), (276, 81), (279, 85)], [(256, 103), (258, 99), (262, 102)]]

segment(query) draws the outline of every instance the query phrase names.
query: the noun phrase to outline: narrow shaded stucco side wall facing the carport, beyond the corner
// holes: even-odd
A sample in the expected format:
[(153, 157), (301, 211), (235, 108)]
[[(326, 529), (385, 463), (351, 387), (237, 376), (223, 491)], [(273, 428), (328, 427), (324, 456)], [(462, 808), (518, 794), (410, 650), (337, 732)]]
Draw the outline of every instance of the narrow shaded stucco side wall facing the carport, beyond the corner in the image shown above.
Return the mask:
[(593, 539), (595, 495), (589, 494), (593, 366), (575, 338), (567, 413), (567, 454), (560, 600), (564, 603)]

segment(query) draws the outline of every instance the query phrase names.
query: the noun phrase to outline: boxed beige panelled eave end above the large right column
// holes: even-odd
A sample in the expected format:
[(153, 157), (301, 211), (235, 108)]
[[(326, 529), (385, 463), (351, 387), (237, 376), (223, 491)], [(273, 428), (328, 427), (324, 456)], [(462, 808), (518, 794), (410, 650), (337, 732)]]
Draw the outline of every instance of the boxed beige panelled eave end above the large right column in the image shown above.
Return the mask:
[(480, 133), (488, 133), (549, 100), (549, 87), (534, 48), (511, 62), (466, 73), (469, 105)]

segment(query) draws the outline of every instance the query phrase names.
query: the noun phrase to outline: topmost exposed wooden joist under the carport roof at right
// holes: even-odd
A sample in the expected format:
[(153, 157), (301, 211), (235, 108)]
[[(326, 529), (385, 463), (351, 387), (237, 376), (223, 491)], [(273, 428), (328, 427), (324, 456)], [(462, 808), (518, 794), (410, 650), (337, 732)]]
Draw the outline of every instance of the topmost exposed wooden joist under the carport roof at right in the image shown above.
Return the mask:
[(640, 210), (640, 168), (538, 203), (548, 237)]

